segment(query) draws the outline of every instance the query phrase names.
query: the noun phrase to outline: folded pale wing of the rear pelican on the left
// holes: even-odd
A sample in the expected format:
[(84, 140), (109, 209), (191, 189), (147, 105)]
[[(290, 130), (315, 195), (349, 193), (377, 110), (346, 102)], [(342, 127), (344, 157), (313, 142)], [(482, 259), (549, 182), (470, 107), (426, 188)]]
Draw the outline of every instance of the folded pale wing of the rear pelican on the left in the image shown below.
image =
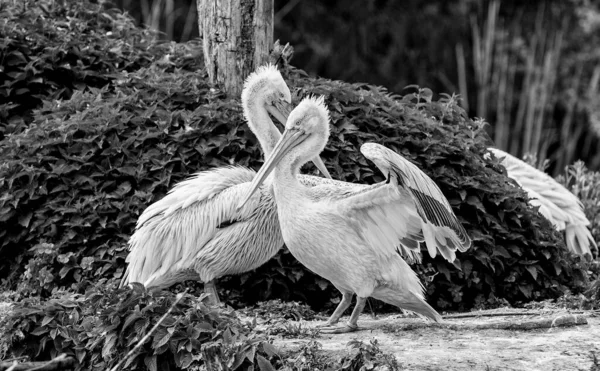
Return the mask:
[[(175, 274), (188, 272), (194, 256), (219, 231), (252, 216), (260, 194), (237, 210), (240, 186), (255, 172), (243, 167), (225, 167), (200, 172), (178, 183), (164, 198), (150, 205), (139, 217), (129, 240), (131, 252), (122, 284), (141, 282), (167, 286)], [(176, 280), (175, 280), (176, 281)]]

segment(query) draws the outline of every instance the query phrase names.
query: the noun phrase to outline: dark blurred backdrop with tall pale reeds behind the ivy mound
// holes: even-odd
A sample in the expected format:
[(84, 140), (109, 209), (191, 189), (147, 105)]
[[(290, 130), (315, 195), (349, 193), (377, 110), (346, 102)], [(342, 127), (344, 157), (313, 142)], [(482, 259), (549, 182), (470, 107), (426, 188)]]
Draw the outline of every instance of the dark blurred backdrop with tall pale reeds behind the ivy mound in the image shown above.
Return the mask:
[[(198, 37), (194, 0), (116, 0), (164, 40)], [(496, 146), (557, 175), (600, 168), (600, 6), (593, 0), (275, 0), (275, 39), (312, 75), (459, 93)]]

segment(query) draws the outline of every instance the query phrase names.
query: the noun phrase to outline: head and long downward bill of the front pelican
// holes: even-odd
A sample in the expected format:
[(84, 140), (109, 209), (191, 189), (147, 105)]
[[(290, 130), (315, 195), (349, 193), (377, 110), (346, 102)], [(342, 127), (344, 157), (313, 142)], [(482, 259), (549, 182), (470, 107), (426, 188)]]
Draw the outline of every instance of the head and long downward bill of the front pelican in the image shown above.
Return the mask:
[(329, 111), (325, 107), (323, 97), (304, 98), (290, 113), (281, 139), (254, 177), (250, 191), (240, 202), (238, 209), (248, 202), (282, 159), (289, 160), (295, 174), (306, 162), (319, 158), (319, 153), (325, 148), (328, 139)]

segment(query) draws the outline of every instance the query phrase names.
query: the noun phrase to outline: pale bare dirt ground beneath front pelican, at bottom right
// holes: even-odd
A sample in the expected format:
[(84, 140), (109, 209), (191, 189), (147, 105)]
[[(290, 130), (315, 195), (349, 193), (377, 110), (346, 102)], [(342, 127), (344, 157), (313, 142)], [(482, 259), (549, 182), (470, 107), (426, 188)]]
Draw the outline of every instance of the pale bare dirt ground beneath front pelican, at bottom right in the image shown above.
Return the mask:
[[(446, 317), (442, 324), (401, 315), (363, 315), (360, 331), (321, 333), (315, 340), (335, 354), (347, 351), (352, 339), (375, 338), (382, 351), (394, 354), (408, 370), (600, 370), (592, 357), (595, 352), (600, 358), (598, 313), (510, 312)], [(298, 323), (315, 327), (324, 321)], [(308, 341), (279, 337), (274, 344), (285, 351)]]

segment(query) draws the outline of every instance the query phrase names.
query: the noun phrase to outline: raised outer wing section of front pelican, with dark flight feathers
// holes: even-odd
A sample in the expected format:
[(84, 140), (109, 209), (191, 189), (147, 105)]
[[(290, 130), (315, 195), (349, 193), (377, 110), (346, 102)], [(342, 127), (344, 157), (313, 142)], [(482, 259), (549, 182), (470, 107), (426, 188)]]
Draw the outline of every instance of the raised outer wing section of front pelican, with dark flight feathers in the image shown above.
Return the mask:
[(432, 257), (439, 251), (444, 258), (453, 261), (457, 249), (466, 251), (471, 246), (471, 239), (450, 203), (431, 178), (382, 145), (366, 143), (360, 150), (386, 175), (389, 186), (407, 191), (421, 219), (422, 233)]

